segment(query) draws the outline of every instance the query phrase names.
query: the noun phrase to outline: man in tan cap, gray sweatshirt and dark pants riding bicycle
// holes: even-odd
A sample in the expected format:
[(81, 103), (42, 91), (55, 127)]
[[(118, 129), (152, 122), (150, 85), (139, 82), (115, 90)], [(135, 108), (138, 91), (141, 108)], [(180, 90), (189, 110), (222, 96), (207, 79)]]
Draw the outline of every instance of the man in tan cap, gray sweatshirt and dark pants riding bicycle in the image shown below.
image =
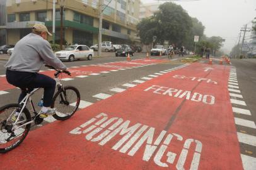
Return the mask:
[(6, 67), (6, 79), (10, 84), (21, 89), (18, 103), (26, 96), (26, 89), (44, 88), (44, 103), (39, 114), (41, 118), (54, 115), (55, 108), (50, 108), (54, 96), (56, 82), (49, 76), (39, 74), (42, 65), (48, 64), (66, 71), (67, 67), (61, 60), (55, 57), (47, 42), (49, 33), (46, 26), (36, 24), (32, 33), (21, 38), (15, 45), (15, 50), (8, 60)]

